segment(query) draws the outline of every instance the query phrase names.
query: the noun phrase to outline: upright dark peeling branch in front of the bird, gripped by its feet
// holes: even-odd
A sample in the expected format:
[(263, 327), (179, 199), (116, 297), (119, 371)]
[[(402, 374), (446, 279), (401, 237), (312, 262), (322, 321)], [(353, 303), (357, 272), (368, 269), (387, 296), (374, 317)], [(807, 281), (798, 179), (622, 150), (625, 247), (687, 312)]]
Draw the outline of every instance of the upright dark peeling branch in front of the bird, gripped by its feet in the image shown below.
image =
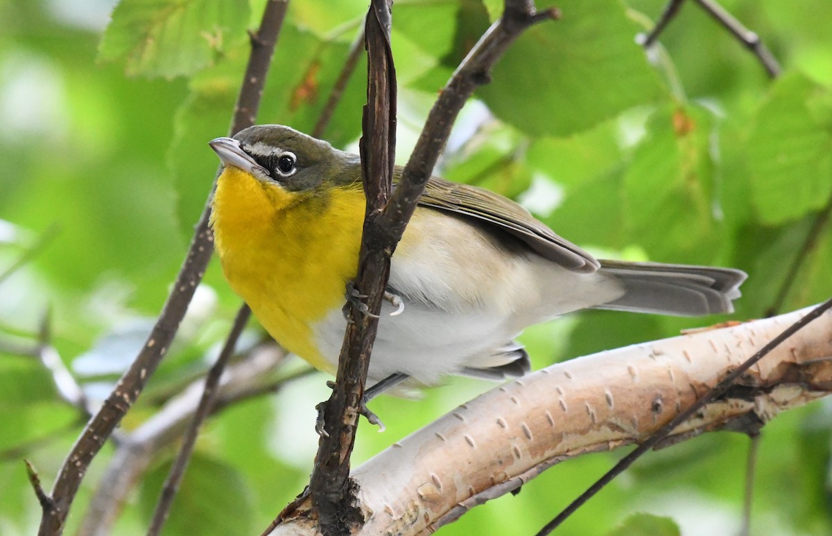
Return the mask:
[(371, 314), (350, 307), (335, 385), (324, 405), (324, 434), (310, 479), (310, 494), (324, 534), (345, 534), (363, 521), (362, 514), (354, 507), (349, 458), (379, 325), (376, 315), (381, 309), (390, 268), (391, 250), (373, 237), (377, 236), (379, 216), (389, 198), (395, 156), (396, 79), (389, 37), (391, 5), (389, 0), (374, 0), (364, 25), (368, 83), (359, 145), (367, 205), (355, 288), (367, 295)]

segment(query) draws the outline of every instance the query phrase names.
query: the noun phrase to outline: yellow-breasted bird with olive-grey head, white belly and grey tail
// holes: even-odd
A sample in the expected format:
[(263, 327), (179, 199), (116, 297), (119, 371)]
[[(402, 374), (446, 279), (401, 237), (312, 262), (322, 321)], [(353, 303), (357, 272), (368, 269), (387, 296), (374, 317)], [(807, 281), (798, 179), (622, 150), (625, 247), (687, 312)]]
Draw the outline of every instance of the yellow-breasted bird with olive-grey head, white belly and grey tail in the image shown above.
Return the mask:
[[(334, 373), (364, 224), (359, 156), (285, 125), (209, 145), (223, 165), (210, 226), (230, 288), (286, 350)], [(368, 386), (522, 376), (525, 327), (587, 308), (732, 312), (745, 278), (734, 268), (598, 260), (502, 195), (431, 177), (390, 260)]]

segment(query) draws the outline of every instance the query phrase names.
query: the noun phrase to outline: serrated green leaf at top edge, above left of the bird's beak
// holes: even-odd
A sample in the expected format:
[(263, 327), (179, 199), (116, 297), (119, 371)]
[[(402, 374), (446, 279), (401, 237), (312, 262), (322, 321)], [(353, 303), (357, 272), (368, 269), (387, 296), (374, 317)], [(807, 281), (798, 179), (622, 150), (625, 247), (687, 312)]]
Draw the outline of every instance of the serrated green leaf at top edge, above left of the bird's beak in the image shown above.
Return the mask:
[(129, 76), (187, 76), (245, 37), (246, 0), (121, 0), (98, 57)]

